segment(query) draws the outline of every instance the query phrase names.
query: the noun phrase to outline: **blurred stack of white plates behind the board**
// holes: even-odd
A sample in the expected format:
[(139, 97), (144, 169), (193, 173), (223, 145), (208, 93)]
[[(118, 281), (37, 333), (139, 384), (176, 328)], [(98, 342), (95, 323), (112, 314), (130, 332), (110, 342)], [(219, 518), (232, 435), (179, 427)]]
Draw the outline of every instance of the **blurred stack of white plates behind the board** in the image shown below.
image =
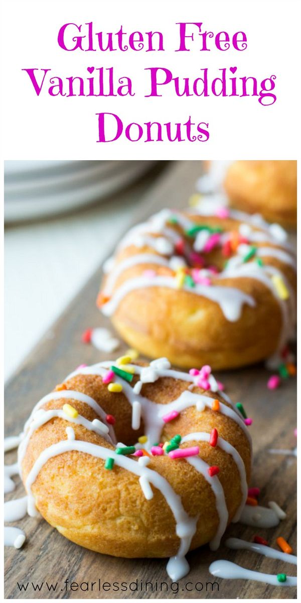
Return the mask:
[(43, 218), (99, 201), (153, 161), (5, 161), (5, 222)]

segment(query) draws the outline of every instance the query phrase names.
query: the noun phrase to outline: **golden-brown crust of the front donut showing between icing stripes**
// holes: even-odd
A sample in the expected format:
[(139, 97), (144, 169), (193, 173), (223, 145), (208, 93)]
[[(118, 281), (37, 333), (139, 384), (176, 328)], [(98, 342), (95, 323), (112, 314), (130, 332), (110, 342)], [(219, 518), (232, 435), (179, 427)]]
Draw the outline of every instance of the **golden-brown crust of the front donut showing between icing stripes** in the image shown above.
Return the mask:
[[(135, 377), (137, 379), (137, 377)], [(126, 434), (124, 425), (131, 422), (131, 406), (120, 394), (108, 395), (107, 387), (99, 377), (79, 375), (66, 382), (67, 388), (93, 395), (106, 412), (116, 412), (116, 396), (119, 410), (116, 412), (116, 431), (123, 435), (124, 443), (132, 444), (131, 434)], [(176, 399), (188, 388), (188, 382), (161, 378), (154, 384), (144, 384), (141, 394), (158, 403)], [(194, 388), (194, 393), (205, 392)], [(205, 395), (222, 400), (219, 394)], [(77, 400), (69, 401), (82, 416), (93, 420), (95, 411)], [(66, 399), (52, 400), (43, 408), (61, 408)], [(229, 406), (223, 400), (226, 406)], [(122, 417), (122, 418), (121, 418)], [(120, 423), (120, 425), (119, 425)], [(34, 462), (46, 447), (66, 440), (66, 427), (72, 425), (76, 440), (82, 440), (113, 449), (101, 436), (81, 425), (70, 424), (62, 418), (53, 418), (34, 431), (22, 463), (23, 482), (26, 481)], [(197, 412), (187, 408), (179, 417), (166, 425), (163, 441), (177, 433), (182, 436), (191, 432), (217, 428), (219, 435), (234, 446), (246, 466), (247, 479), (250, 475), (250, 446), (244, 431), (231, 418), (206, 408)], [(181, 447), (193, 445), (192, 442)], [(218, 447), (197, 442), (200, 457), (206, 463), (220, 467), (219, 479), (225, 491), (229, 511), (229, 522), (241, 502), (240, 475), (232, 456)], [(131, 457), (134, 458), (134, 457)], [(136, 459), (137, 461), (137, 459)], [(208, 482), (185, 459), (173, 460), (169, 456), (151, 456), (148, 466), (169, 481), (181, 496), (185, 511), (190, 517), (199, 515), (197, 531), (191, 549), (214, 537), (219, 525), (216, 500)], [(175, 555), (179, 538), (175, 533), (175, 519), (163, 494), (152, 487), (154, 497), (146, 500), (138, 476), (121, 467), (104, 469), (104, 461), (87, 453), (64, 452), (49, 459), (42, 467), (32, 486), (36, 506), (42, 516), (69, 540), (93, 551), (118, 557), (167, 557)]]

